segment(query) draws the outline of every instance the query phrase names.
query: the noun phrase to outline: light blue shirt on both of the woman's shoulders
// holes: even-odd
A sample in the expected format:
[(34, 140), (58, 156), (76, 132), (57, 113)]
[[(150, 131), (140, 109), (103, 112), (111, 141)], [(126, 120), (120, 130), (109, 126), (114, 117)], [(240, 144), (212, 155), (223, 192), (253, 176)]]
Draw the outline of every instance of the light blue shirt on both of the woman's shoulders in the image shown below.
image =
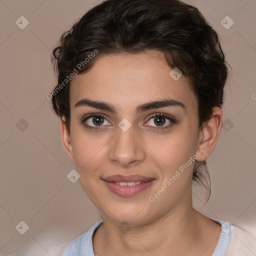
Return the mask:
[[(211, 256), (224, 256), (230, 241), (231, 228), (227, 222), (213, 219), (221, 224), (221, 233), (218, 243)], [(92, 247), (92, 235), (94, 230), (102, 223), (102, 220), (95, 223), (87, 232), (71, 241), (61, 256), (94, 256)]]

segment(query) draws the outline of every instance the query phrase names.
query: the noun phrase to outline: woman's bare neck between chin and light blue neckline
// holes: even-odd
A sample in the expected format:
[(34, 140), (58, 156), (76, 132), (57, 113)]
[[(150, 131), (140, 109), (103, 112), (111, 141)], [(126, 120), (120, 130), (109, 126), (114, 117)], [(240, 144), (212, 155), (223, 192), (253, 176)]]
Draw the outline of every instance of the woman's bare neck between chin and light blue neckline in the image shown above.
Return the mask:
[(93, 236), (94, 253), (99, 256), (211, 255), (220, 234), (219, 224), (193, 209), (187, 201), (179, 201), (153, 221), (128, 226), (127, 232), (108, 216), (101, 217), (103, 223)]

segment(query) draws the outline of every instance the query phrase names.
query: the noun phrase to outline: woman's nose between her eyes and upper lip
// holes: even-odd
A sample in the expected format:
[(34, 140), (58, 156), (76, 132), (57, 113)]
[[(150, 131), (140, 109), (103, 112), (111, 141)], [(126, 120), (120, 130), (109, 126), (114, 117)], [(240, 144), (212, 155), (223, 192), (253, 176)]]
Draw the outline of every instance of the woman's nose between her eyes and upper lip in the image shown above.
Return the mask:
[(122, 167), (133, 166), (145, 159), (144, 147), (132, 126), (126, 131), (117, 128), (110, 144), (109, 159)]

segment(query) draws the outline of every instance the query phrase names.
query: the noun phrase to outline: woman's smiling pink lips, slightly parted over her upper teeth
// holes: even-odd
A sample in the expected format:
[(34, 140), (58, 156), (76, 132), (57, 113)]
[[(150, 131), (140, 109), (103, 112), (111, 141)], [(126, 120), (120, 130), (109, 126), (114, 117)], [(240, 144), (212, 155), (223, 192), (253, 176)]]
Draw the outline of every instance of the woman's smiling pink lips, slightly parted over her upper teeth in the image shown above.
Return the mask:
[[(148, 188), (154, 181), (155, 178), (140, 176), (140, 175), (129, 175), (129, 176), (123, 176), (123, 175), (112, 175), (108, 176), (103, 179), (104, 183), (106, 184), (107, 188), (120, 196), (132, 196), (135, 194), (138, 194)], [(116, 184), (114, 182), (132, 182), (132, 181), (141, 181), (143, 183), (136, 184), (133, 186), (121, 186), (119, 184)]]

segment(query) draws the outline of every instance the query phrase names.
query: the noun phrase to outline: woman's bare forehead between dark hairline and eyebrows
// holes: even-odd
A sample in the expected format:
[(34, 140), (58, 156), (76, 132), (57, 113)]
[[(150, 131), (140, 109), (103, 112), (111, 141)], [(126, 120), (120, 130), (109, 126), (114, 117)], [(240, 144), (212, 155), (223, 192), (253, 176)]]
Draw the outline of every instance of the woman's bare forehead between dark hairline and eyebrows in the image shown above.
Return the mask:
[(174, 80), (163, 53), (147, 51), (137, 54), (108, 54), (99, 56), (92, 68), (77, 74), (70, 83), (70, 107), (85, 98), (102, 100), (117, 109), (163, 98), (181, 101), (189, 109), (197, 101), (182, 75)]

